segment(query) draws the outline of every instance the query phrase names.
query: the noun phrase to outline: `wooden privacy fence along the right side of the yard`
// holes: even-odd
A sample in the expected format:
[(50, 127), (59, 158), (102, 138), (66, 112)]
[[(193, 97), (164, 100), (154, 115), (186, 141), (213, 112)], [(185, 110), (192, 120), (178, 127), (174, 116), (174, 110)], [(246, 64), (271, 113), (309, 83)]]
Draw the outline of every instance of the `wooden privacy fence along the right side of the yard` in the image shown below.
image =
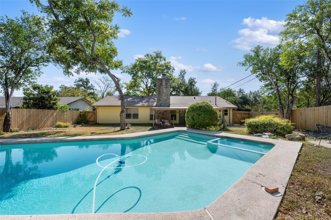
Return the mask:
[[(253, 118), (258, 115), (276, 114), (279, 111), (233, 111), (233, 124), (243, 124), (241, 120)], [(286, 114), (286, 111), (284, 112)], [(315, 124), (331, 126), (331, 106), (320, 106), (307, 109), (294, 109), (291, 112), (290, 121), (296, 130), (315, 130)]]

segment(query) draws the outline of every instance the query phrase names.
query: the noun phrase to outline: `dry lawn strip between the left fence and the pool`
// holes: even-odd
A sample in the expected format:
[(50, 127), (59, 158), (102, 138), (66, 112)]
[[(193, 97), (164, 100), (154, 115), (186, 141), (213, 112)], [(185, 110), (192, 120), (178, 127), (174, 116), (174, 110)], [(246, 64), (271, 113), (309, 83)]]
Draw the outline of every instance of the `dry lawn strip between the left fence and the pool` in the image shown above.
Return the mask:
[(8, 132), (0, 136), (1, 139), (8, 138), (49, 138), (49, 137), (75, 137), (75, 136), (98, 136), (98, 135), (120, 135), (142, 131), (157, 130), (150, 124), (132, 124), (130, 129), (119, 130), (119, 124), (86, 124), (84, 126), (69, 128), (45, 128), (32, 131)]

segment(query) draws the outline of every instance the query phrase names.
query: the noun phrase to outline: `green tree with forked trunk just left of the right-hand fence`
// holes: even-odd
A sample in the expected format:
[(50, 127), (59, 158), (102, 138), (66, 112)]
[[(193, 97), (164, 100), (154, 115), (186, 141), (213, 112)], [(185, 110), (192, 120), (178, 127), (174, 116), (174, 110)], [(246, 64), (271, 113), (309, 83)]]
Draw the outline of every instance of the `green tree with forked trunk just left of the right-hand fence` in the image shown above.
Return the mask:
[[(251, 49), (251, 52), (245, 54), (244, 61), (239, 62), (238, 65), (245, 66), (246, 70), (251, 69), (251, 73), (256, 74), (256, 77), (264, 82), (264, 86), (271, 89), (269, 91), (275, 92), (281, 118), (289, 119), (302, 80), (302, 66), (294, 65), (286, 68), (280, 64), (282, 45), (266, 49), (258, 45)], [(286, 93), (286, 115), (284, 115), (282, 91)]]

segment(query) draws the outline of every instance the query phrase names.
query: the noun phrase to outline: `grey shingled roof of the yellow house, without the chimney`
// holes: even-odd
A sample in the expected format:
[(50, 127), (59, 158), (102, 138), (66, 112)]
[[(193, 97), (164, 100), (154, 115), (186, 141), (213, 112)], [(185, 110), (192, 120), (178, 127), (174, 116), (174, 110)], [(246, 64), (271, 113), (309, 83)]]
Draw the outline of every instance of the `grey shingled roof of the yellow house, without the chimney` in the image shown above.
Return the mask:
[[(215, 103), (216, 97), (216, 103)], [(187, 108), (196, 102), (208, 102), (214, 108), (233, 108), (237, 106), (225, 101), (218, 96), (170, 96), (169, 108)], [(106, 96), (100, 101), (93, 104), (95, 107), (102, 106), (120, 106), (119, 96)], [(156, 96), (125, 96), (126, 106), (156, 106)]]

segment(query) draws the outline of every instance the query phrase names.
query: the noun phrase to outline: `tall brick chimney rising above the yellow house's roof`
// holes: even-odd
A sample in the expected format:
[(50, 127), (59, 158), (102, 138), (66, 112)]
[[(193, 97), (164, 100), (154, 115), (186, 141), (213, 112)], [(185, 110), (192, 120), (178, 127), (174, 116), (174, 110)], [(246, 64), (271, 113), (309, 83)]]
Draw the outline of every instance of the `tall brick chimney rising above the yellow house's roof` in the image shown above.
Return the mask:
[[(170, 79), (156, 79), (156, 107), (170, 107)], [(169, 112), (170, 117), (170, 112)]]

